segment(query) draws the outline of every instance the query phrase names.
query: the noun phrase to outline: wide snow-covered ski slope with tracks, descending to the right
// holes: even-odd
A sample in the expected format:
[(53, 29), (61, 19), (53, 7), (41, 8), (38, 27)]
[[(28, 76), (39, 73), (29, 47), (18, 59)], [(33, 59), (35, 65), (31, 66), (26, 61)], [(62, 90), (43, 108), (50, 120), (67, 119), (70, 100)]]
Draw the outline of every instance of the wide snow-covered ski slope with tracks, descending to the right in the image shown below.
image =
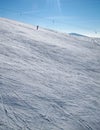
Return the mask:
[(100, 39), (0, 18), (0, 130), (100, 130)]

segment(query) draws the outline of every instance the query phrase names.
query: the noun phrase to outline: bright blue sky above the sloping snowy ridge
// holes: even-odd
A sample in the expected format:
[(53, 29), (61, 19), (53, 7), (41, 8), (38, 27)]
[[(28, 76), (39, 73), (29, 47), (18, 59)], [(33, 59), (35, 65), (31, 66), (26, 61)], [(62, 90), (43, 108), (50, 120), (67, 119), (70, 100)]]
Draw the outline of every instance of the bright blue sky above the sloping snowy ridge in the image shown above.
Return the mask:
[(0, 0), (0, 17), (100, 37), (100, 0)]

